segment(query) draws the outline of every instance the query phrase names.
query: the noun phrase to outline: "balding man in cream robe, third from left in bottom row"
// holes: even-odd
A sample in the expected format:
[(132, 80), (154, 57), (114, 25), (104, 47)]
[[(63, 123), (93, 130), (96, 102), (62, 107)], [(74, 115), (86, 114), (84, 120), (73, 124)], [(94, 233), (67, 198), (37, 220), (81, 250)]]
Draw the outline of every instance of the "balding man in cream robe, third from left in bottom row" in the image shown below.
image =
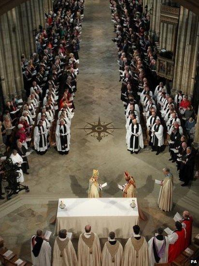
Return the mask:
[(85, 226), (78, 242), (78, 266), (100, 266), (101, 250), (99, 237), (91, 232), (91, 226)]

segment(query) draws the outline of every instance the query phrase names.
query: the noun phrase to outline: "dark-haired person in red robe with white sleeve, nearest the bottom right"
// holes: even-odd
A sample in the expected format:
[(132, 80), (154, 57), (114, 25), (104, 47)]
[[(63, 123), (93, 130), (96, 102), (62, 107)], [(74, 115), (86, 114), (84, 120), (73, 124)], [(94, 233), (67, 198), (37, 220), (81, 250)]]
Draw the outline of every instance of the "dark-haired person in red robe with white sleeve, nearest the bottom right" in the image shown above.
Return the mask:
[(182, 223), (180, 221), (175, 222), (175, 227), (176, 230), (174, 230), (171, 235), (168, 235), (170, 243), (168, 263), (174, 261), (180, 253), (185, 250), (186, 231), (182, 227)]

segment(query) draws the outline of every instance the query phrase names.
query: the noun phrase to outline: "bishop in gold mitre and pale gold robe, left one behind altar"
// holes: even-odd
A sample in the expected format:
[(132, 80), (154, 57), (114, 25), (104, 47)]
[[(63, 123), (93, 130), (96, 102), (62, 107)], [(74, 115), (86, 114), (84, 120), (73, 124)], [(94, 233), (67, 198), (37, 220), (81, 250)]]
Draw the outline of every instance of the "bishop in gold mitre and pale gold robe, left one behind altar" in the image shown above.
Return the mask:
[(101, 198), (101, 188), (98, 179), (99, 171), (93, 169), (93, 174), (89, 179), (88, 198)]

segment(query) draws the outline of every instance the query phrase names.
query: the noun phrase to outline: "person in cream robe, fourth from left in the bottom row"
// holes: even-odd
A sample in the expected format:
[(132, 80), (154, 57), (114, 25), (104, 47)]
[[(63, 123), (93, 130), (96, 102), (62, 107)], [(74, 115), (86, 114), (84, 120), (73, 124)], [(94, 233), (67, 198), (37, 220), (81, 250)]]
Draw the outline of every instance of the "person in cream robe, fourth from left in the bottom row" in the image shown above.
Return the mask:
[(121, 266), (123, 248), (119, 241), (115, 240), (115, 233), (110, 232), (108, 241), (104, 244), (101, 253), (101, 266)]

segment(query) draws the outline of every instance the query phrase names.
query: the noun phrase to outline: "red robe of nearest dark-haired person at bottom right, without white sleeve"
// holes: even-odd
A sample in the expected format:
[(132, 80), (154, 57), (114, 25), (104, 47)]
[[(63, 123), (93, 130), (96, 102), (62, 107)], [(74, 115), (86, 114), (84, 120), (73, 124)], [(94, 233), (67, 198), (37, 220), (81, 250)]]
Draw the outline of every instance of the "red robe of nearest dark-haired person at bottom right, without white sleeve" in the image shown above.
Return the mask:
[(185, 229), (175, 231), (175, 233), (178, 235), (178, 240), (174, 244), (169, 245), (168, 263), (174, 261), (185, 250)]

